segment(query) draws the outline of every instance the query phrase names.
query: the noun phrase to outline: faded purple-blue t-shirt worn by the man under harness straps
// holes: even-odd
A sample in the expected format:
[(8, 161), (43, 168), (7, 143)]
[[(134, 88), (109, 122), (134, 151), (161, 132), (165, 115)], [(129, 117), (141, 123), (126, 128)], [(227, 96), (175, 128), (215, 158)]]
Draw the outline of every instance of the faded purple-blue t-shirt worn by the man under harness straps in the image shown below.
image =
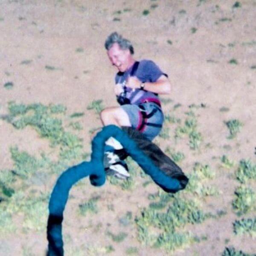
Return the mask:
[[(126, 79), (131, 74), (132, 68), (133, 66), (125, 72), (118, 72), (115, 78), (116, 84), (122, 84), (124, 87)], [(167, 76), (153, 61), (150, 60), (140, 61), (139, 66), (134, 73), (134, 76), (136, 76), (142, 82), (155, 82), (162, 75)], [(132, 89), (130, 87), (126, 87), (126, 98), (130, 99), (131, 104), (135, 105), (139, 105), (145, 99), (151, 99), (153, 101), (155, 99), (159, 102), (157, 93), (140, 89)]]

